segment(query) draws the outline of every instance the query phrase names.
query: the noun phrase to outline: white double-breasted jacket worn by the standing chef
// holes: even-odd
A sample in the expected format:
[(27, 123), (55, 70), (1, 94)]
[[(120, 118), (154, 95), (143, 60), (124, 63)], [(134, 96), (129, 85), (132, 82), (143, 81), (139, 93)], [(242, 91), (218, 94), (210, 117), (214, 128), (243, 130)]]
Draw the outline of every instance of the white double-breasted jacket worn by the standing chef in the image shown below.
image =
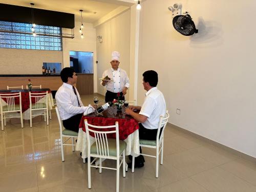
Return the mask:
[(124, 87), (129, 88), (130, 80), (124, 70), (120, 68), (118, 68), (117, 70), (114, 70), (113, 68), (105, 70), (102, 74), (102, 79), (107, 75), (113, 80), (110, 80), (106, 83), (106, 90), (113, 93), (119, 93), (123, 91)]

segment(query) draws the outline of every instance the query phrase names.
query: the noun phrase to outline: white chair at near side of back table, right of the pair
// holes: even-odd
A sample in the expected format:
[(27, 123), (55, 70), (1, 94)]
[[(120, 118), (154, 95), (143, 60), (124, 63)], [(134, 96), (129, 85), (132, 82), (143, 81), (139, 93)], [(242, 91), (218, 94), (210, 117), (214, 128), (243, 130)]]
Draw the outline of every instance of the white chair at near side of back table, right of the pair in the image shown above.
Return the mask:
[[(35, 100), (35, 103), (32, 103), (32, 99)], [(29, 92), (29, 103), (30, 103), (30, 127), (32, 127), (32, 116), (44, 115), (47, 125), (49, 125), (49, 115), (48, 115), (48, 91), (42, 93), (31, 93)], [(39, 111), (35, 115), (32, 115), (32, 112)], [(43, 111), (44, 113), (40, 113)]]

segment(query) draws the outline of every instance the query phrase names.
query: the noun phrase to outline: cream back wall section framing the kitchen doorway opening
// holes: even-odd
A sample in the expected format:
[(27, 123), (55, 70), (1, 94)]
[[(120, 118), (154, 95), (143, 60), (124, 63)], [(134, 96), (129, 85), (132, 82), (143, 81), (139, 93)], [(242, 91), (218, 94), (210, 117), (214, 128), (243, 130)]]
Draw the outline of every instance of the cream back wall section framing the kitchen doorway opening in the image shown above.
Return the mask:
[[(63, 43), (63, 67), (70, 67), (70, 55), (69, 51), (84, 51), (84, 52), (93, 52), (94, 57), (94, 92), (97, 92), (97, 66), (96, 66), (96, 29), (93, 28), (92, 24), (85, 23), (83, 24), (83, 35), (82, 39), (79, 33), (79, 17), (76, 18), (74, 34), (75, 38), (65, 38), (62, 40)], [(70, 33), (70, 29), (63, 30), (63, 33)]]

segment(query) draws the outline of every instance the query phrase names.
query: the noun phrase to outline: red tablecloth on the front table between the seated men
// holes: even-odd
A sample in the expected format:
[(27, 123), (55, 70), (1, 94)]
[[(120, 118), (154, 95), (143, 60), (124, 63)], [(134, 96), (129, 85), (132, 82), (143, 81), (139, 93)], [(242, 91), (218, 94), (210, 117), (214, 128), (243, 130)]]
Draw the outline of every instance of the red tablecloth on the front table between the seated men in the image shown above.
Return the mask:
[[(135, 119), (118, 119), (118, 118), (105, 118), (105, 117), (88, 117), (82, 116), (79, 127), (85, 132), (86, 126), (84, 125), (84, 119), (87, 119), (89, 124), (96, 126), (109, 126), (115, 125), (118, 121), (119, 126), (119, 139), (125, 140), (130, 134), (139, 129), (139, 123)], [(93, 128), (91, 127), (93, 130)], [(104, 129), (104, 131), (110, 131), (112, 129)], [(91, 135), (91, 133), (90, 133)], [(94, 137), (94, 135), (91, 135)], [(116, 138), (116, 134), (109, 134), (108, 138)]]

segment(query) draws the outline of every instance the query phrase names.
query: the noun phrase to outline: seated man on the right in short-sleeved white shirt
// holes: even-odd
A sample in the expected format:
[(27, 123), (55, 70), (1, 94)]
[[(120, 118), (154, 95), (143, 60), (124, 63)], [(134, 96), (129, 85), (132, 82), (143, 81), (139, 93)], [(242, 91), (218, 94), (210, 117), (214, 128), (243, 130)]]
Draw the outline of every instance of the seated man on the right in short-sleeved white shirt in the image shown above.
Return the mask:
[[(155, 71), (143, 73), (143, 87), (146, 90), (146, 97), (142, 106), (130, 106), (125, 110), (127, 115), (131, 115), (139, 121), (139, 138), (145, 140), (156, 140), (157, 129), (160, 116), (166, 112), (165, 99), (161, 91), (157, 89), (158, 74)], [(133, 111), (140, 110), (140, 113)], [(160, 130), (161, 135), (162, 129)], [(140, 148), (141, 153), (141, 148)], [(144, 166), (145, 160), (142, 155), (135, 158), (135, 167)], [(131, 164), (129, 164), (131, 167)]]

